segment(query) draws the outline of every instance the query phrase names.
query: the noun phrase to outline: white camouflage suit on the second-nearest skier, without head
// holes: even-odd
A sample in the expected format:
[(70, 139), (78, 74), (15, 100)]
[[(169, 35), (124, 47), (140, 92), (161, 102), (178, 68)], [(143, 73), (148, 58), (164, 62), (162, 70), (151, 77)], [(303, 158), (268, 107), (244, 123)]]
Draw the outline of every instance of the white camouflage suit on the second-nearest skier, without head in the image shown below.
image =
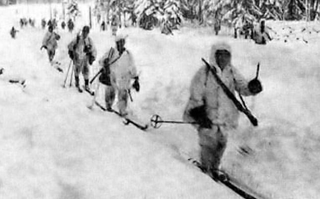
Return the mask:
[[(109, 52), (113, 51), (113, 52)], [(132, 54), (125, 50), (119, 58), (119, 51), (116, 48), (111, 48), (99, 60), (99, 65), (103, 67), (105, 60), (110, 53), (110, 82), (111, 85), (105, 85), (105, 102), (106, 107), (111, 108), (114, 100), (115, 93), (118, 95), (118, 108), (119, 112), (125, 115), (128, 101), (128, 90), (132, 88), (132, 80), (137, 77), (137, 69), (132, 57)]]

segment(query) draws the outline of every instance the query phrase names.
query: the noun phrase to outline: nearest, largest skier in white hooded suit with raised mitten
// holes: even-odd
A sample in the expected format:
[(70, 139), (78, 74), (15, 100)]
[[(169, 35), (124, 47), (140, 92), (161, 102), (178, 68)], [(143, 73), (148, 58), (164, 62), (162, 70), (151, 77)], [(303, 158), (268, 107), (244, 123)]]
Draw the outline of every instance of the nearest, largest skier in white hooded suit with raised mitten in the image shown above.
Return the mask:
[[(216, 67), (218, 76), (232, 93), (237, 91), (243, 96), (250, 96), (262, 91), (258, 80), (248, 84), (231, 64), (231, 47), (228, 44), (212, 45), (209, 63)], [(195, 127), (201, 147), (201, 165), (213, 177), (217, 178), (220, 173), (227, 132), (237, 128), (238, 118), (239, 111), (233, 101), (224, 93), (208, 67), (201, 67), (191, 82), (183, 120), (198, 123)]]

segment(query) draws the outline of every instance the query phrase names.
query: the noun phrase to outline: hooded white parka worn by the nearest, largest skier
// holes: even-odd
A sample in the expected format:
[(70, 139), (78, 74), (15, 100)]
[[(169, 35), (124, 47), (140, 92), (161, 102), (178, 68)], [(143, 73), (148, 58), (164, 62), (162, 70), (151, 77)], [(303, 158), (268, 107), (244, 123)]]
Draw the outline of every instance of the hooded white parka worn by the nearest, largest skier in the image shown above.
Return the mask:
[[(232, 64), (221, 71), (215, 59), (217, 50), (232, 52), (231, 47), (226, 43), (218, 43), (211, 47), (209, 63), (216, 67), (221, 80), (232, 93), (237, 91), (243, 96), (253, 95), (248, 90), (248, 81), (242, 77)], [(205, 105), (208, 118), (212, 122), (225, 124), (227, 128), (236, 128), (238, 126), (239, 111), (237, 107), (227, 97), (206, 66), (201, 67), (193, 77), (190, 86), (190, 99), (185, 108), (183, 119), (188, 122), (194, 122), (195, 120), (190, 116), (189, 111), (201, 105)]]

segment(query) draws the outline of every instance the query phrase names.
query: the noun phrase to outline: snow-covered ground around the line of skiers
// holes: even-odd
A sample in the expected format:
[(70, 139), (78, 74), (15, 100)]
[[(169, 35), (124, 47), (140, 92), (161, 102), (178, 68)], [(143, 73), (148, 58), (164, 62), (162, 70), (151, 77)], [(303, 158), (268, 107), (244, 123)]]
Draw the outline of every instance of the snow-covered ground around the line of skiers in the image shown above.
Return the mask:
[[(48, 17), (44, 7), (28, 7), (28, 13), (39, 18), (38, 25)], [(98, 107), (89, 110), (89, 95), (62, 88), (70, 62), (67, 44), (74, 35), (59, 31), (56, 59), (65, 71), (59, 73), (39, 50), (44, 30), (28, 27), (17, 33), (17, 39), (10, 38), (9, 29), (17, 25), (23, 10), (21, 5), (0, 8), (0, 67), (5, 68), (0, 76), (1, 199), (239, 198), (185, 160), (198, 158), (197, 133), (191, 126), (163, 124), (142, 132)], [(229, 134), (222, 166), (269, 198), (317, 199), (320, 38), (301, 31), (305, 22), (267, 24), (279, 39), (266, 46), (214, 36), (209, 28), (182, 28), (174, 36), (158, 29), (121, 30), (129, 35), (127, 47), (141, 72), (141, 91), (133, 93), (129, 108), (144, 122), (153, 114), (181, 120), (201, 57), (208, 58), (215, 41), (227, 40), (233, 63), (244, 76), (253, 78), (260, 62), (264, 91), (246, 98), (259, 126), (251, 127), (241, 116), (239, 128)], [(307, 25), (308, 30), (320, 30), (316, 22)], [(284, 42), (288, 26), (295, 35)], [(110, 35), (90, 33), (98, 58), (113, 45)], [(308, 43), (297, 40), (297, 35)], [(95, 62), (91, 74), (98, 68)], [(26, 79), (24, 90), (6, 81), (15, 77)], [(240, 146), (251, 148), (250, 155), (241, 155)]]

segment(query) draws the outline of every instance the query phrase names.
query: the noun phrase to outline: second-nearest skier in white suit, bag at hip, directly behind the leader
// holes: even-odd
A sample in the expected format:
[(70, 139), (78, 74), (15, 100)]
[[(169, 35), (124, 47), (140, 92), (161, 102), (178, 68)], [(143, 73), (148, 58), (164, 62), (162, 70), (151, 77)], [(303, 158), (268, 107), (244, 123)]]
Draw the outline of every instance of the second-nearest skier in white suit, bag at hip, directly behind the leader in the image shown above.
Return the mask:
[(104, 68), (99, 81), (105, 85), (106, 108), (111, 109), (117, 92), (118, 108), (121, 115), (127, 114), (126, 108), (130, 89), (134, 88), (137, 92), (140, 90), (133, 56), (124, 45), (125, 36), (118, 35), (116, 37), (116, 48), (110, 48), (99, 60), (100, 66)]

